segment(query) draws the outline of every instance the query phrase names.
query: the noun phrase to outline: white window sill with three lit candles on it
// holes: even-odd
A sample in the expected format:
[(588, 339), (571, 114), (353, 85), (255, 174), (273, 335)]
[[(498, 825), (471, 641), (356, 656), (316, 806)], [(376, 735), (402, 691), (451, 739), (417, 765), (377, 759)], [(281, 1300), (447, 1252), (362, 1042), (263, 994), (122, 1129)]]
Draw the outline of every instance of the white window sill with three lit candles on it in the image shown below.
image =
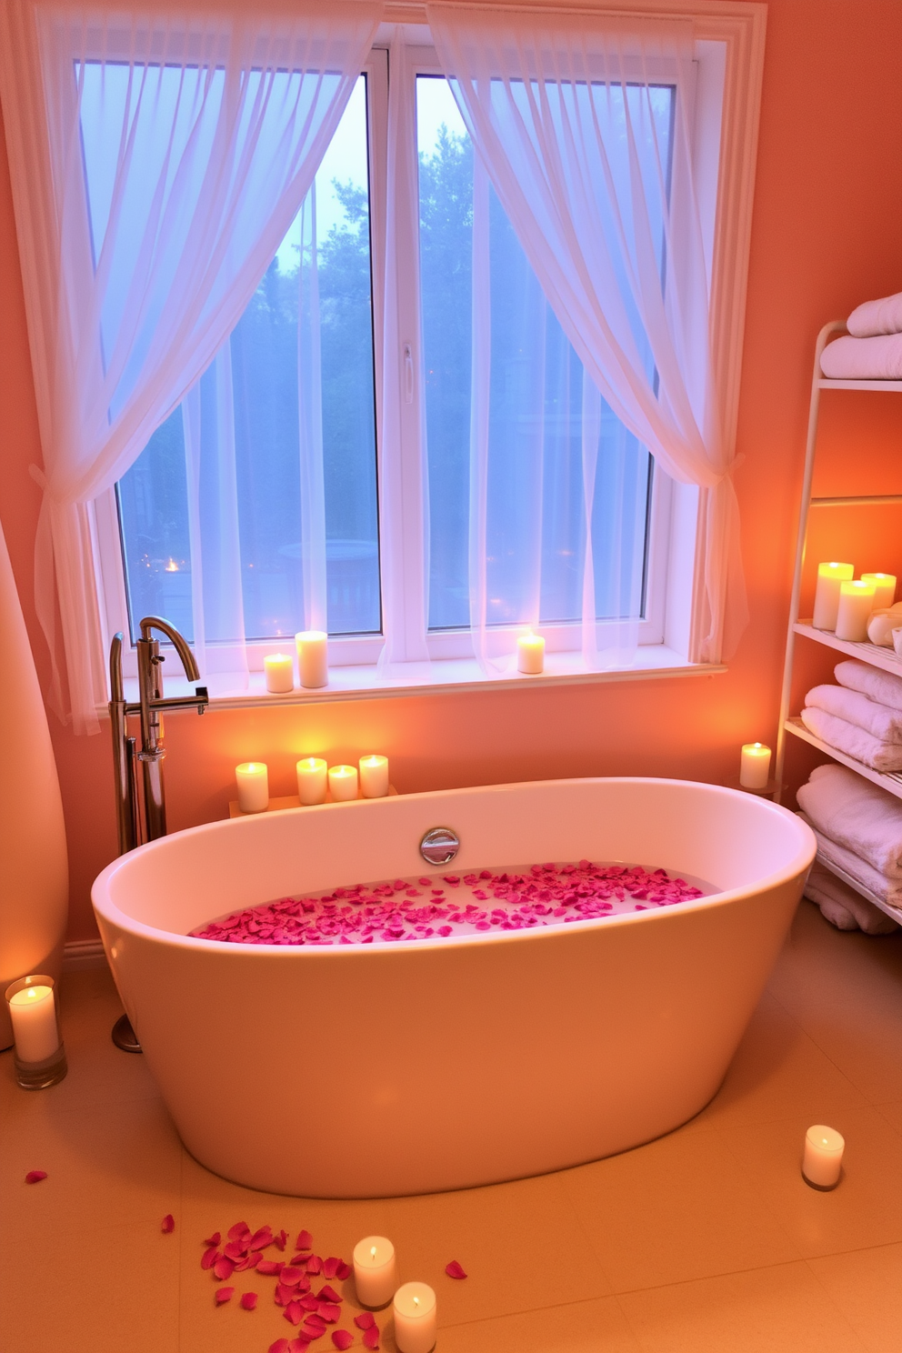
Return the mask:
[[(448, 695), (457, 691), (522, 690), (527, 686), (587, 686), (598, 682), (650, 681), (672, 676), (711, 676), (725, 672), (722, 663), (690, 663), (665, 644), (642, 645), (630, 667), (586, 671), (581, 653), (549, 653), (545, 671), (538, 676), (504, 672), (485, 676), (472, 658), (438, 659), (430, 663), (398, 664), (380, 675), (375, 664), (330, 667), (329, 686), (273, 695), (265, 687), (262, 672), (246, 678), (234, 672), (211, 672), (207, 678), (210, 709), (262, 709), (265, 705), (322, 705), (346, 700), (383, 700), (398, 695)], [(138, 698), (138, 683), (126, 679), (126, 700)], [(184, 678), (169, 678), (166, 695), (193, 694), (193, 685)], [(105, 713), (105, 709), (97, 710)]]

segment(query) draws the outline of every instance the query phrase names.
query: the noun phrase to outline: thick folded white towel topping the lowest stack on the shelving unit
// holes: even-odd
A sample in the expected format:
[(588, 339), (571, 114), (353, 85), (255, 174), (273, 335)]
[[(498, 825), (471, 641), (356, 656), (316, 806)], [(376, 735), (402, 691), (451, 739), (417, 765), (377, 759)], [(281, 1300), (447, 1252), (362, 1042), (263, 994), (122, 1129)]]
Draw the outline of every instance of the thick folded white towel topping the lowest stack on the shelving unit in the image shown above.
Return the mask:
[(902, 800), (845, 766), (818, 766), (795, 796), (814, 829), (902, 884)]

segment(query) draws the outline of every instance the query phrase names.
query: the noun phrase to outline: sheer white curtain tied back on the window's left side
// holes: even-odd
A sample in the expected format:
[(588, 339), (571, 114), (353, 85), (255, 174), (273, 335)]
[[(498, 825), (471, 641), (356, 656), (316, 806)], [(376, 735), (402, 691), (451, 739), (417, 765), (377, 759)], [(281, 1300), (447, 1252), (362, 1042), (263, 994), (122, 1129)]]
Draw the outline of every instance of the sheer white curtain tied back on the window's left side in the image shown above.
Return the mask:
[[(312, 184), (381, 4), (5, 0), (0, 81), (38, 395), (41, 624), (105, 701), (91, 502), (210, 365)], [(91, 146), (103, 149), (95, 162)], [(114, 166), (112, 169), (110, 166)], [(54, 689), (61, 701), (58, 676)]]

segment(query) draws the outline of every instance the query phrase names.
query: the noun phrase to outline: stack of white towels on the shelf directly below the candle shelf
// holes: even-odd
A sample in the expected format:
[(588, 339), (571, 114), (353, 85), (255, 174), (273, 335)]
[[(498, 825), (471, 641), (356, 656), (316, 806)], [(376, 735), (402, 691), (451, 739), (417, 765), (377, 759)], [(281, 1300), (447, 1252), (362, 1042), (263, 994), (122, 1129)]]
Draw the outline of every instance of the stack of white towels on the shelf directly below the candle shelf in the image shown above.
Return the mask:
[(833, 675), (838, 686), (805, 697), (805, 727), (872, 770), (902, 770), (902, 676), (855, 659), (837, 663)]

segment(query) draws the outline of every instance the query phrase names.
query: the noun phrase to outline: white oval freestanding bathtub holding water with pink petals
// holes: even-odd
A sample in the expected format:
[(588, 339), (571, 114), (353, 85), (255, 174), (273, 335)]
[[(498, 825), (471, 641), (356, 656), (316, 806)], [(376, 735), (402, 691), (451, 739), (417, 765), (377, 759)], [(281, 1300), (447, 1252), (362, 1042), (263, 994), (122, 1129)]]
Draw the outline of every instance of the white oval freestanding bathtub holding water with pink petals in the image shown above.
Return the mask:
[[(627, 861), (714, 896), (541, 931), (368, 947), (188, 932), (299, 892)], [(93, 886), (116, 985), (188, 1150), (252, 1188), (371, 1197), (561, 1169), (684, 1123), (719, 1086), (814, 858), (792, 813), (713, 785), (495, 785), (212, 823)], [(450, 867), (450, 866), (449, 866)]]

